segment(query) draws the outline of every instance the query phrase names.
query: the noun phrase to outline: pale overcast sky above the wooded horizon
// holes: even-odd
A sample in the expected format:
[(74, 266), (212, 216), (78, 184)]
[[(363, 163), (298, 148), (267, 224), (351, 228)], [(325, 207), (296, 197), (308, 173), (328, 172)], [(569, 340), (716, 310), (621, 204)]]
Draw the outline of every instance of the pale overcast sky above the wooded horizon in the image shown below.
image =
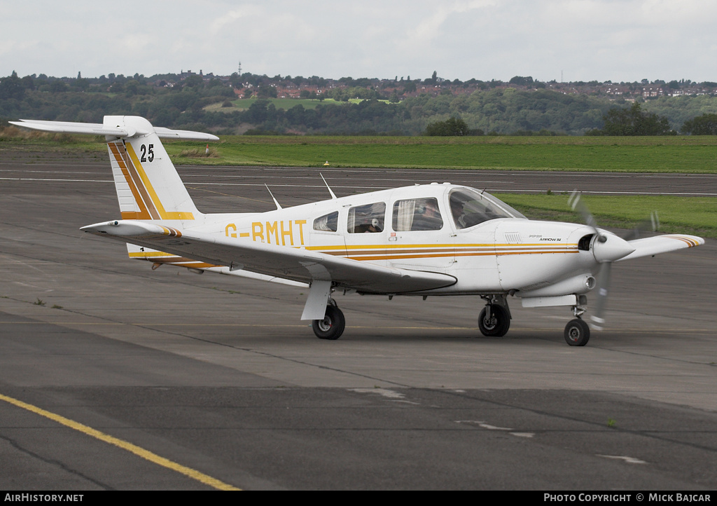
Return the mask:
[(715, 0), (0, 0), (0, 76), (717, 81)]

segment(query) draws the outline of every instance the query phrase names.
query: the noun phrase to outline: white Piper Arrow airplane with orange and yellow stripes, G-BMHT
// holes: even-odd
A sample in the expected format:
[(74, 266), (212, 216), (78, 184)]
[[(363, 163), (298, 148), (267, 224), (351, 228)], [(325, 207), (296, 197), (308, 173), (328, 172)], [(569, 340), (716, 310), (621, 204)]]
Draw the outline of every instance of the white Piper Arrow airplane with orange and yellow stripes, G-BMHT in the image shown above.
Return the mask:
[[(82, 227), (127, 243), (130, 258), (200, 271), (308, 287), (301, 319), (320, 339), (338, 339), (345, 319), (332, 294), (477, 295), (478, 327), (503, 336), (508, 299), (524, 307), (568, 306), (566, 342), (584, 346), (586, 294), (598, 288), (593, 327), (604, 322), (612, 262), (692, 248), (693, 235), (625, 240), (597, 228), (574, 195), (587, 225), (528, 220), (478, 189), (456, 184), (411, 187), (276, 210), (204, 214), (160, 139), (218, 140), (208, 133), (153, 127), (137, 116), (104, 123), (21, 120), (42, 131), (105, 136), (120, 202), (120, 220)], [(325, 181), (326, 182), (326, 181)], [(268, 189), (268, 187), (267, 187)], [(273, 195), (272, 195), (273, 198)], [(596, 279), (598, 276), (599, 279)]]

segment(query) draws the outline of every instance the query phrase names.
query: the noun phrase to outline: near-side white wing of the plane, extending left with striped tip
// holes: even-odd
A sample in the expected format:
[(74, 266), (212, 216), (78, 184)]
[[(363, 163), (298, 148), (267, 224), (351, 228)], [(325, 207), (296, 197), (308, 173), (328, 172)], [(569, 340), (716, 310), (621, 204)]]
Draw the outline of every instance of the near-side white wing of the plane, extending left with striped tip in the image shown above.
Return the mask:
[(331, 281), (364, 294), (404, 294), (456, 282), (453, 276), (442, 273), (377, 266), (303, 248), (224, 238), (147, 221), (103, 222), (81, 230), (232, 270), (245, 269), (304, 283)]

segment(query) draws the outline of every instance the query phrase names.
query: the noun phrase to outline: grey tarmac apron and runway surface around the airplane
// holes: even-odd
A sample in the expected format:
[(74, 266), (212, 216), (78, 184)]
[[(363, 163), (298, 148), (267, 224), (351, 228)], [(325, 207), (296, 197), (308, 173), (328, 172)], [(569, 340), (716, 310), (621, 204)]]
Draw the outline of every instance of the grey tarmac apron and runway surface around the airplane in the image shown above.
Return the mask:
[[(717, 195), (717, 177), (179, 167), (203, 212), (414, 182)], [(0, 151), (0, 489), (717, 487), (717, 245), (617, 263), (608, 324), (478, 297), (338, 296), (130, 261), (106, 156)], [(61, 418), (62, 417), (62, 418)], [(75, 424), (73, 425), (74, 422)], [(107, 436), (107, 437), (104, 437)]]

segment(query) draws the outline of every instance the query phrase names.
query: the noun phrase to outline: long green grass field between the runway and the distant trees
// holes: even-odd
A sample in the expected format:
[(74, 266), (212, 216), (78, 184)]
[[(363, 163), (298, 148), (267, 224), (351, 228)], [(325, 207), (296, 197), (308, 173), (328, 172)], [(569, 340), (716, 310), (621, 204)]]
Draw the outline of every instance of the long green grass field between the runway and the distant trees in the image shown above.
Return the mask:
[[(196, 146), (196, 143), (193, 145)], [(717, 172), (717, 137), (227, 136), (213, 156), (168, 144), (177, 163), (588, 172)], [(204, 149), (199, 150), (204, 154)]]

